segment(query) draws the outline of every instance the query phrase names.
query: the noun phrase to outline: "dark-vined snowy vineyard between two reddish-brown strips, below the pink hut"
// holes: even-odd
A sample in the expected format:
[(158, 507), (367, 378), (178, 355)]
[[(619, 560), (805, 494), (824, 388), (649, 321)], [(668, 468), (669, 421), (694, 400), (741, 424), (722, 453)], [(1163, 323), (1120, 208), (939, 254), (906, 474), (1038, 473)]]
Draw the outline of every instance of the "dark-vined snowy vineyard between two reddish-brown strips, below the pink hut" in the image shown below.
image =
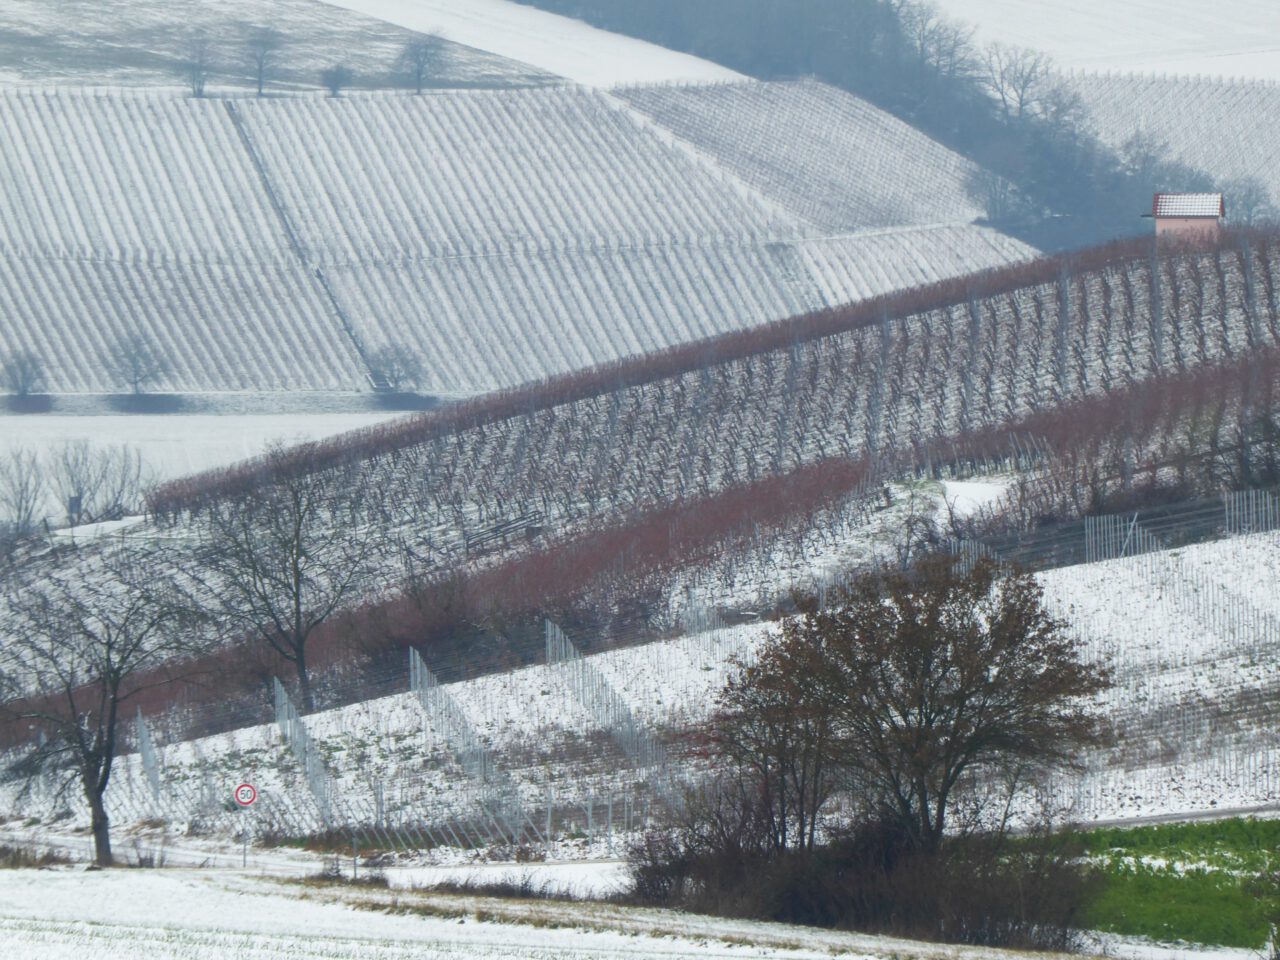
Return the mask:
[[(1169, 257), (1155, 273), (1146, 257), (1124, 261), (428, 433), (326, 475), (323, 522), (376, 544), (371, 599), (385, 599), (407, 576), (406, 556), (419, 577), (476, 571), (644, 511), (836, 457), (909, 449), (913, 438), (997, 428), (1157, 371), (1229, 361), (1249, 343), (1266, 347), (1280, 324), (1274, 256), (1254, 243)], [(151, 568), (189, 570), (204, 543), (198, 508), (175, 504), (128, 531)], [(513, 530), (520, 536), (503, 532)], [(88, 582), (100, 563), (90, 543), (33, 557), (18, 576)]]

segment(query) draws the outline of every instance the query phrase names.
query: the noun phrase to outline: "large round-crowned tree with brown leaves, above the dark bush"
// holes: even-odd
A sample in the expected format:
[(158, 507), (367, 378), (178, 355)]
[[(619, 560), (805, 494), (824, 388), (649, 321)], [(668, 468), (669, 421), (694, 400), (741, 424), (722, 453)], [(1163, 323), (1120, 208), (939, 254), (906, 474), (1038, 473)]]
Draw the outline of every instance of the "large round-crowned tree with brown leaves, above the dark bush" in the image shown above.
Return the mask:
[(932, 557), (865, 576), (786, 635), (831, 709), (833, 756), (911, 846), (936, 850), (957, 795), (1070, 764), (1098, 742), (1105, 668), (1044, 609), (1030, 573)]

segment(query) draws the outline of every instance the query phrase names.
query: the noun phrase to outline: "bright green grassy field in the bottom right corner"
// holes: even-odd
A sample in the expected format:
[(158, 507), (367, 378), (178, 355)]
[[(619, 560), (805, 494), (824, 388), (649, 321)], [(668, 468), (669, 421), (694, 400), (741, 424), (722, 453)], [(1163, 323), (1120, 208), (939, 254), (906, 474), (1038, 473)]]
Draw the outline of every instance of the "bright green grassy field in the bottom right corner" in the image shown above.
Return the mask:
[(1258, 948), (1280, 896), (1280, 820), (1231, 819), (1079, 835), (1105, 883), (1087, 925), (1162, 941)]

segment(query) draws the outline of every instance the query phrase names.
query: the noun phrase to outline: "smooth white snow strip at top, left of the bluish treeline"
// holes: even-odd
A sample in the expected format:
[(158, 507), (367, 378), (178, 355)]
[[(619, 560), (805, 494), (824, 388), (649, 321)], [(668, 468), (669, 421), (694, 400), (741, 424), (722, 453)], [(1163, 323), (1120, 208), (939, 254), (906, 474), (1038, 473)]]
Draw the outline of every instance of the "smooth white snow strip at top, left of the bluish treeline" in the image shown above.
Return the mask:
[(520, 60), (577, 83), (730, 81), (742, 74), (696, 56), (589, 27), (508, 0), (326, 0), (420, 33)]

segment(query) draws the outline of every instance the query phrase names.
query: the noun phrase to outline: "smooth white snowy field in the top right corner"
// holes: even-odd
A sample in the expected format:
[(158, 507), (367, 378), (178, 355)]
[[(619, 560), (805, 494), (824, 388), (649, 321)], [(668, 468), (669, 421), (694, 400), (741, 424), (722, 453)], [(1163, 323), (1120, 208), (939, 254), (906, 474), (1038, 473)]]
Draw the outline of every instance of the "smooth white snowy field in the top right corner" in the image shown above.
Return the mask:
[(1275, 0), (937, 0), (979, 41), (1036, 47), (1059, 67), (1280, 79)]

